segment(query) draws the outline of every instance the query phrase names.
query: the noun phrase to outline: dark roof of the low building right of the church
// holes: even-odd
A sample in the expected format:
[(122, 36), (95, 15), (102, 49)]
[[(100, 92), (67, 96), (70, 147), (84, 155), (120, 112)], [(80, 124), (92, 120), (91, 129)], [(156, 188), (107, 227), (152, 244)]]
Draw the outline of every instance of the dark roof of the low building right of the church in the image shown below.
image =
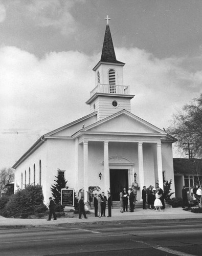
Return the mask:
[(197, 158), (173, 158), (174, 174), (196, 174), (196, 167), (202, 171), (202, 161)]

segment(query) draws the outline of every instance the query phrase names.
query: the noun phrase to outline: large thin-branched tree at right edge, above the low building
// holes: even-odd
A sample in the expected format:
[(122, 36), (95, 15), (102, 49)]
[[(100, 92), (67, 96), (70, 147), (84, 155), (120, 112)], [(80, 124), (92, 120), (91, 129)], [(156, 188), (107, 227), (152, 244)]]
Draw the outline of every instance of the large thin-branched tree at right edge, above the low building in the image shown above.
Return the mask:
[(166, 132), (177, 139), (176, 144), (181, 149), (185, 147), (184, 143), (193, 143), (193, 156), (201, 158), (202, 94), (174, 115), (173, 122)]

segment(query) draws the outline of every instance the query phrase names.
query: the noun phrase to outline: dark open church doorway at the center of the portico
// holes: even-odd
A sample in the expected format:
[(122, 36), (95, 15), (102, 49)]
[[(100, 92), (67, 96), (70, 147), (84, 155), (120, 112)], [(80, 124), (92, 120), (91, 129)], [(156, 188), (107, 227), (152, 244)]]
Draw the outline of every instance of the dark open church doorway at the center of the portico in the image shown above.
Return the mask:
[(120, 201), (120, 192), (128, 188), (128, 170), (110, 169), (110, 193), (113, 201)]

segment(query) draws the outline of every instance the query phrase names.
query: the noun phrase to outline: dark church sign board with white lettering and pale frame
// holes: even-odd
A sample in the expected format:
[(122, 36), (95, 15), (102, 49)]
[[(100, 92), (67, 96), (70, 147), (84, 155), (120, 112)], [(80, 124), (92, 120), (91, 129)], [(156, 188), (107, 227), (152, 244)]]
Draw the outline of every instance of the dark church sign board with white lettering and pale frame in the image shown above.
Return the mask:
[(74, 209), (74, 189), (61, 189), (61, 204), (64, 205), (64, 210)]

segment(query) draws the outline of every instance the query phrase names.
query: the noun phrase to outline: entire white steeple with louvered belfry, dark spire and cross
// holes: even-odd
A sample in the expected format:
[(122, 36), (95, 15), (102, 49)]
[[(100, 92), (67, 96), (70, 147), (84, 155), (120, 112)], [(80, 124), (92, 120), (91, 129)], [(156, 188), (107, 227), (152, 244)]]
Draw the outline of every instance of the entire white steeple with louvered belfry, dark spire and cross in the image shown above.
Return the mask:
[(94, 67), (95, 88), (91, 98), (86, 101), (90, 105), (90, 113), (98, 112), (97, 121), (113, 115), (123, 109), (130, 112), (129, 86), (123, 84), (123, 67), (125, 63), (118, 61), (107, 20), (101, 59)]

